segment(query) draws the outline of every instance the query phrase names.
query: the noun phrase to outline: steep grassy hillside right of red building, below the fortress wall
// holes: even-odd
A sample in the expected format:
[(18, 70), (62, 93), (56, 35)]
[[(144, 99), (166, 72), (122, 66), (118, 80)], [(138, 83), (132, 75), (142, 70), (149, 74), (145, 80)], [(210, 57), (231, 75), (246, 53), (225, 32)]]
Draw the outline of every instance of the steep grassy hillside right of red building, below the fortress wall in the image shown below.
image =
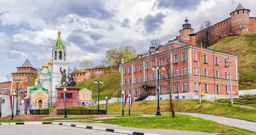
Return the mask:
[(256, 66), (256, 57), (252, 56), (256, 55), (256, 48), (253, 48), (256, 46), (256, 33), (224, 37), (219, 41), (213, 42), (210, 48), (240, 55), (238, 59), (239, 90), (255, 89), (256, 67), (253, 66)]

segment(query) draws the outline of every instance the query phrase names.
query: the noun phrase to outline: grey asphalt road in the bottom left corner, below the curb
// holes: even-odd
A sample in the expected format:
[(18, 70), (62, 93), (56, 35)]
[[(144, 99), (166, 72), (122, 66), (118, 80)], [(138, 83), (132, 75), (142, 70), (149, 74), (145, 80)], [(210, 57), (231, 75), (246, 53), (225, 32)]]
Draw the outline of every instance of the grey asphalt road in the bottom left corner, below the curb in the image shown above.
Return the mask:
[(83, 129), (54, 124), (43, 125), (0, 125), (1, 135), (125, 135), (107, 131)]

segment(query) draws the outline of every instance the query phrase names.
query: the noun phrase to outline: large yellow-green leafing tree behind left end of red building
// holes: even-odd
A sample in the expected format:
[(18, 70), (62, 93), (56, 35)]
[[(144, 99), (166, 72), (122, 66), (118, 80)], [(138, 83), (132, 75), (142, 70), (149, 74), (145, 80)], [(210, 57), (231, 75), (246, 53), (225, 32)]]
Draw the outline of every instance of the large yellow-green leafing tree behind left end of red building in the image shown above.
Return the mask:
[(117, 66), (122, 62), (128, 62), (131, 58), (136, 58), (137, 52), (133, 46), (120, 46), (106, 51), (106, 56), (103, 58), (102, 63), (106, 66)]

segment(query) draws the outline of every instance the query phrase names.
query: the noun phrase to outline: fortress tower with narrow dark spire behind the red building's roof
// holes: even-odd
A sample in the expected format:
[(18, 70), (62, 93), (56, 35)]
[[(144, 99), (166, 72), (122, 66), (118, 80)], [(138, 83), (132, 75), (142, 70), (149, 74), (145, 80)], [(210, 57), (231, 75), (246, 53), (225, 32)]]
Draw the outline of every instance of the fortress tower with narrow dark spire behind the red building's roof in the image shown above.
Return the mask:
[(183, 29), (180, 30), (180, 42), (183, 44), (189, 43), (190, 34), (194, 34), (194, 29), (191, 28), (191, 24), (188, 23), (188, 18), (184, 20), (185, 24), (182, 24)]

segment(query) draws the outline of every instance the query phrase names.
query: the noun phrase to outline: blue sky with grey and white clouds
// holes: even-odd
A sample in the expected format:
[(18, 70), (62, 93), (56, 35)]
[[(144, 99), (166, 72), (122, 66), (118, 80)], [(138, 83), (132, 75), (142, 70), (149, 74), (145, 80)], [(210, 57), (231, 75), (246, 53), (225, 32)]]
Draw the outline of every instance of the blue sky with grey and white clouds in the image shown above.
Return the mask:
[(152, 39), (164, 45), (179, 36), (186, 16), (196, 33), (205, 20), (229, 18), (239, 2), (256, 17), (255, 0), (0, 0), (0, 82), (26, 59), (35, 68), (44, 56), (47, 63), (59, 24), (69, 67), (98, 66), (107, 50), (133, 46), (140, 54)]

